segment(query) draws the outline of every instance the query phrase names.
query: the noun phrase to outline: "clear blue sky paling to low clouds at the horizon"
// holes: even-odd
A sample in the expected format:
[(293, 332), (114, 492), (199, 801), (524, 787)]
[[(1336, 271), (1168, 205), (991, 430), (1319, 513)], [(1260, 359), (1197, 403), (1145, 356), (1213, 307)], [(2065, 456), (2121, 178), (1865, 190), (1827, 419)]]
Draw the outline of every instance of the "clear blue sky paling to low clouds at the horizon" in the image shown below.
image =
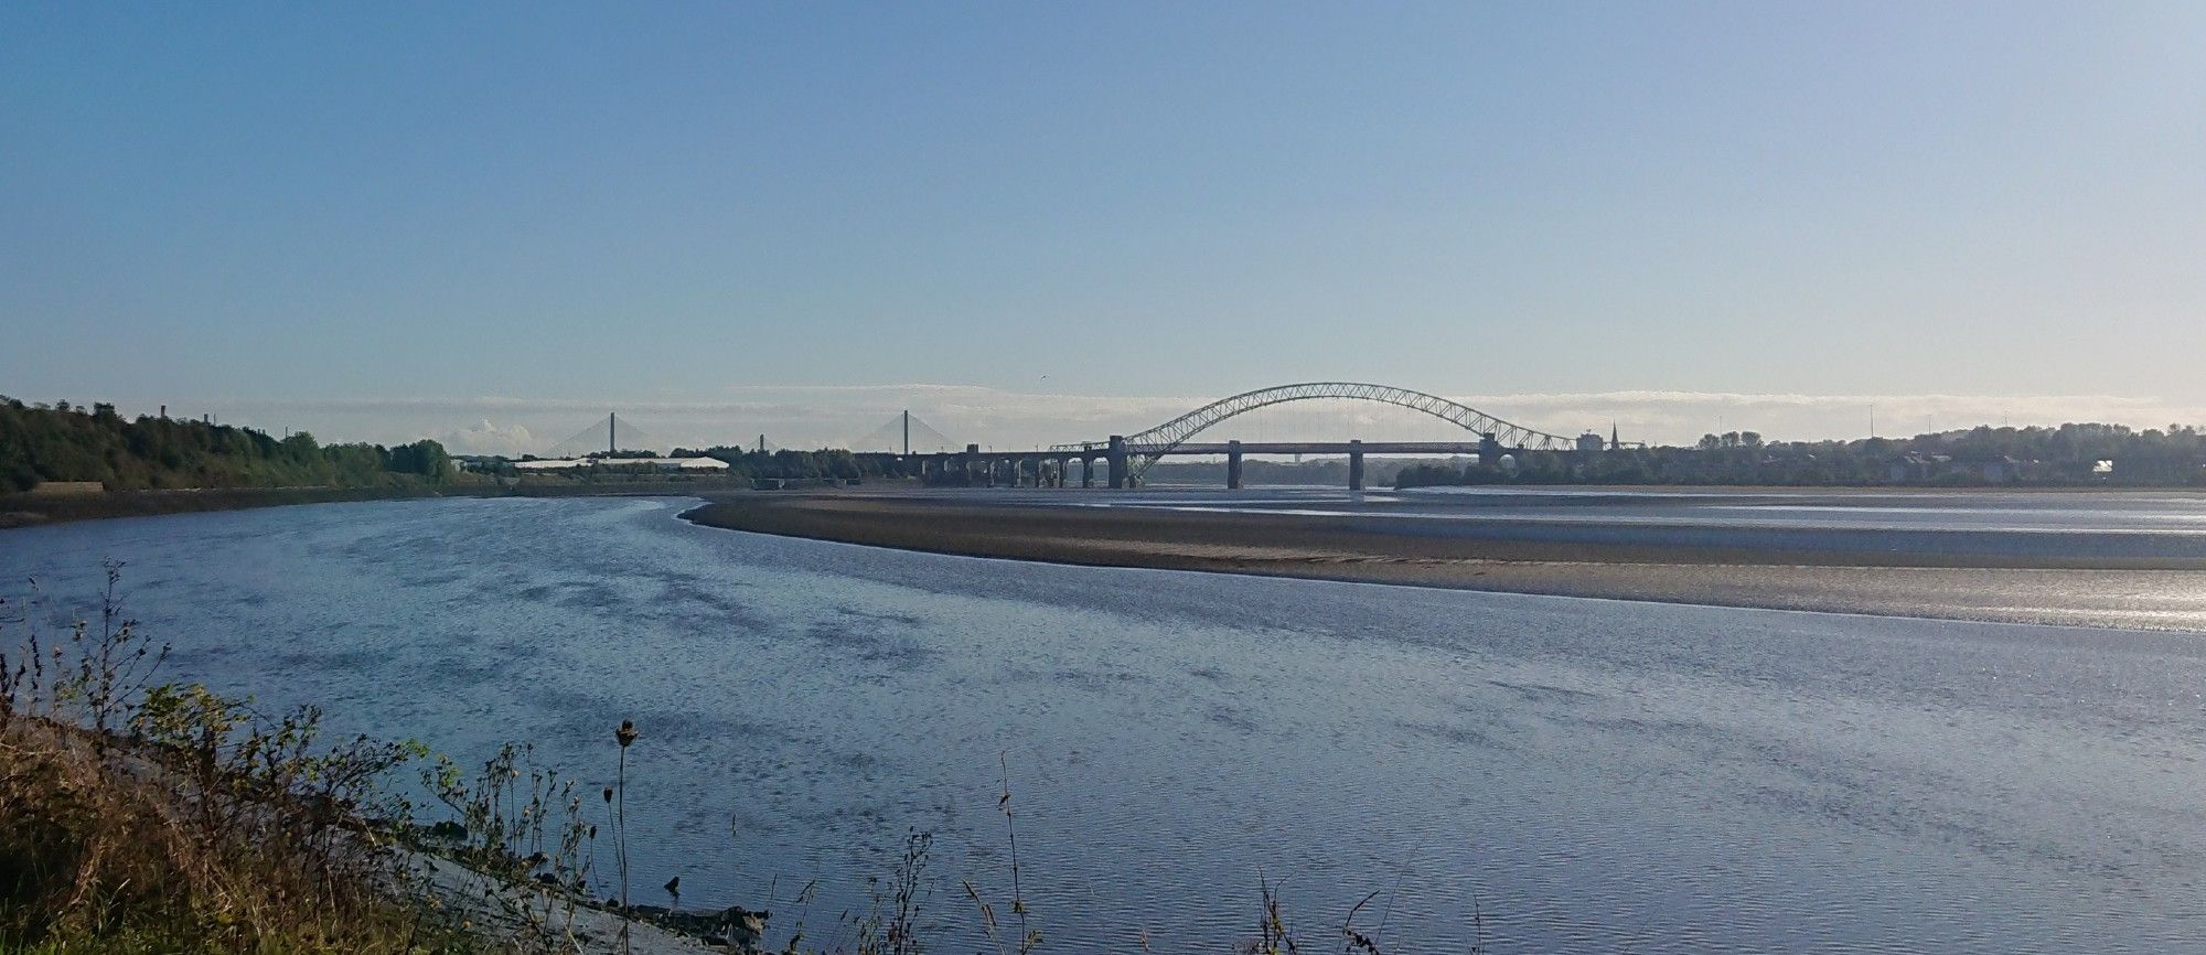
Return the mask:
[(2199, 51), (2197, 2), (24, 0), (0, 395), (501, 452), (1308, 379), (2206, 423)]

